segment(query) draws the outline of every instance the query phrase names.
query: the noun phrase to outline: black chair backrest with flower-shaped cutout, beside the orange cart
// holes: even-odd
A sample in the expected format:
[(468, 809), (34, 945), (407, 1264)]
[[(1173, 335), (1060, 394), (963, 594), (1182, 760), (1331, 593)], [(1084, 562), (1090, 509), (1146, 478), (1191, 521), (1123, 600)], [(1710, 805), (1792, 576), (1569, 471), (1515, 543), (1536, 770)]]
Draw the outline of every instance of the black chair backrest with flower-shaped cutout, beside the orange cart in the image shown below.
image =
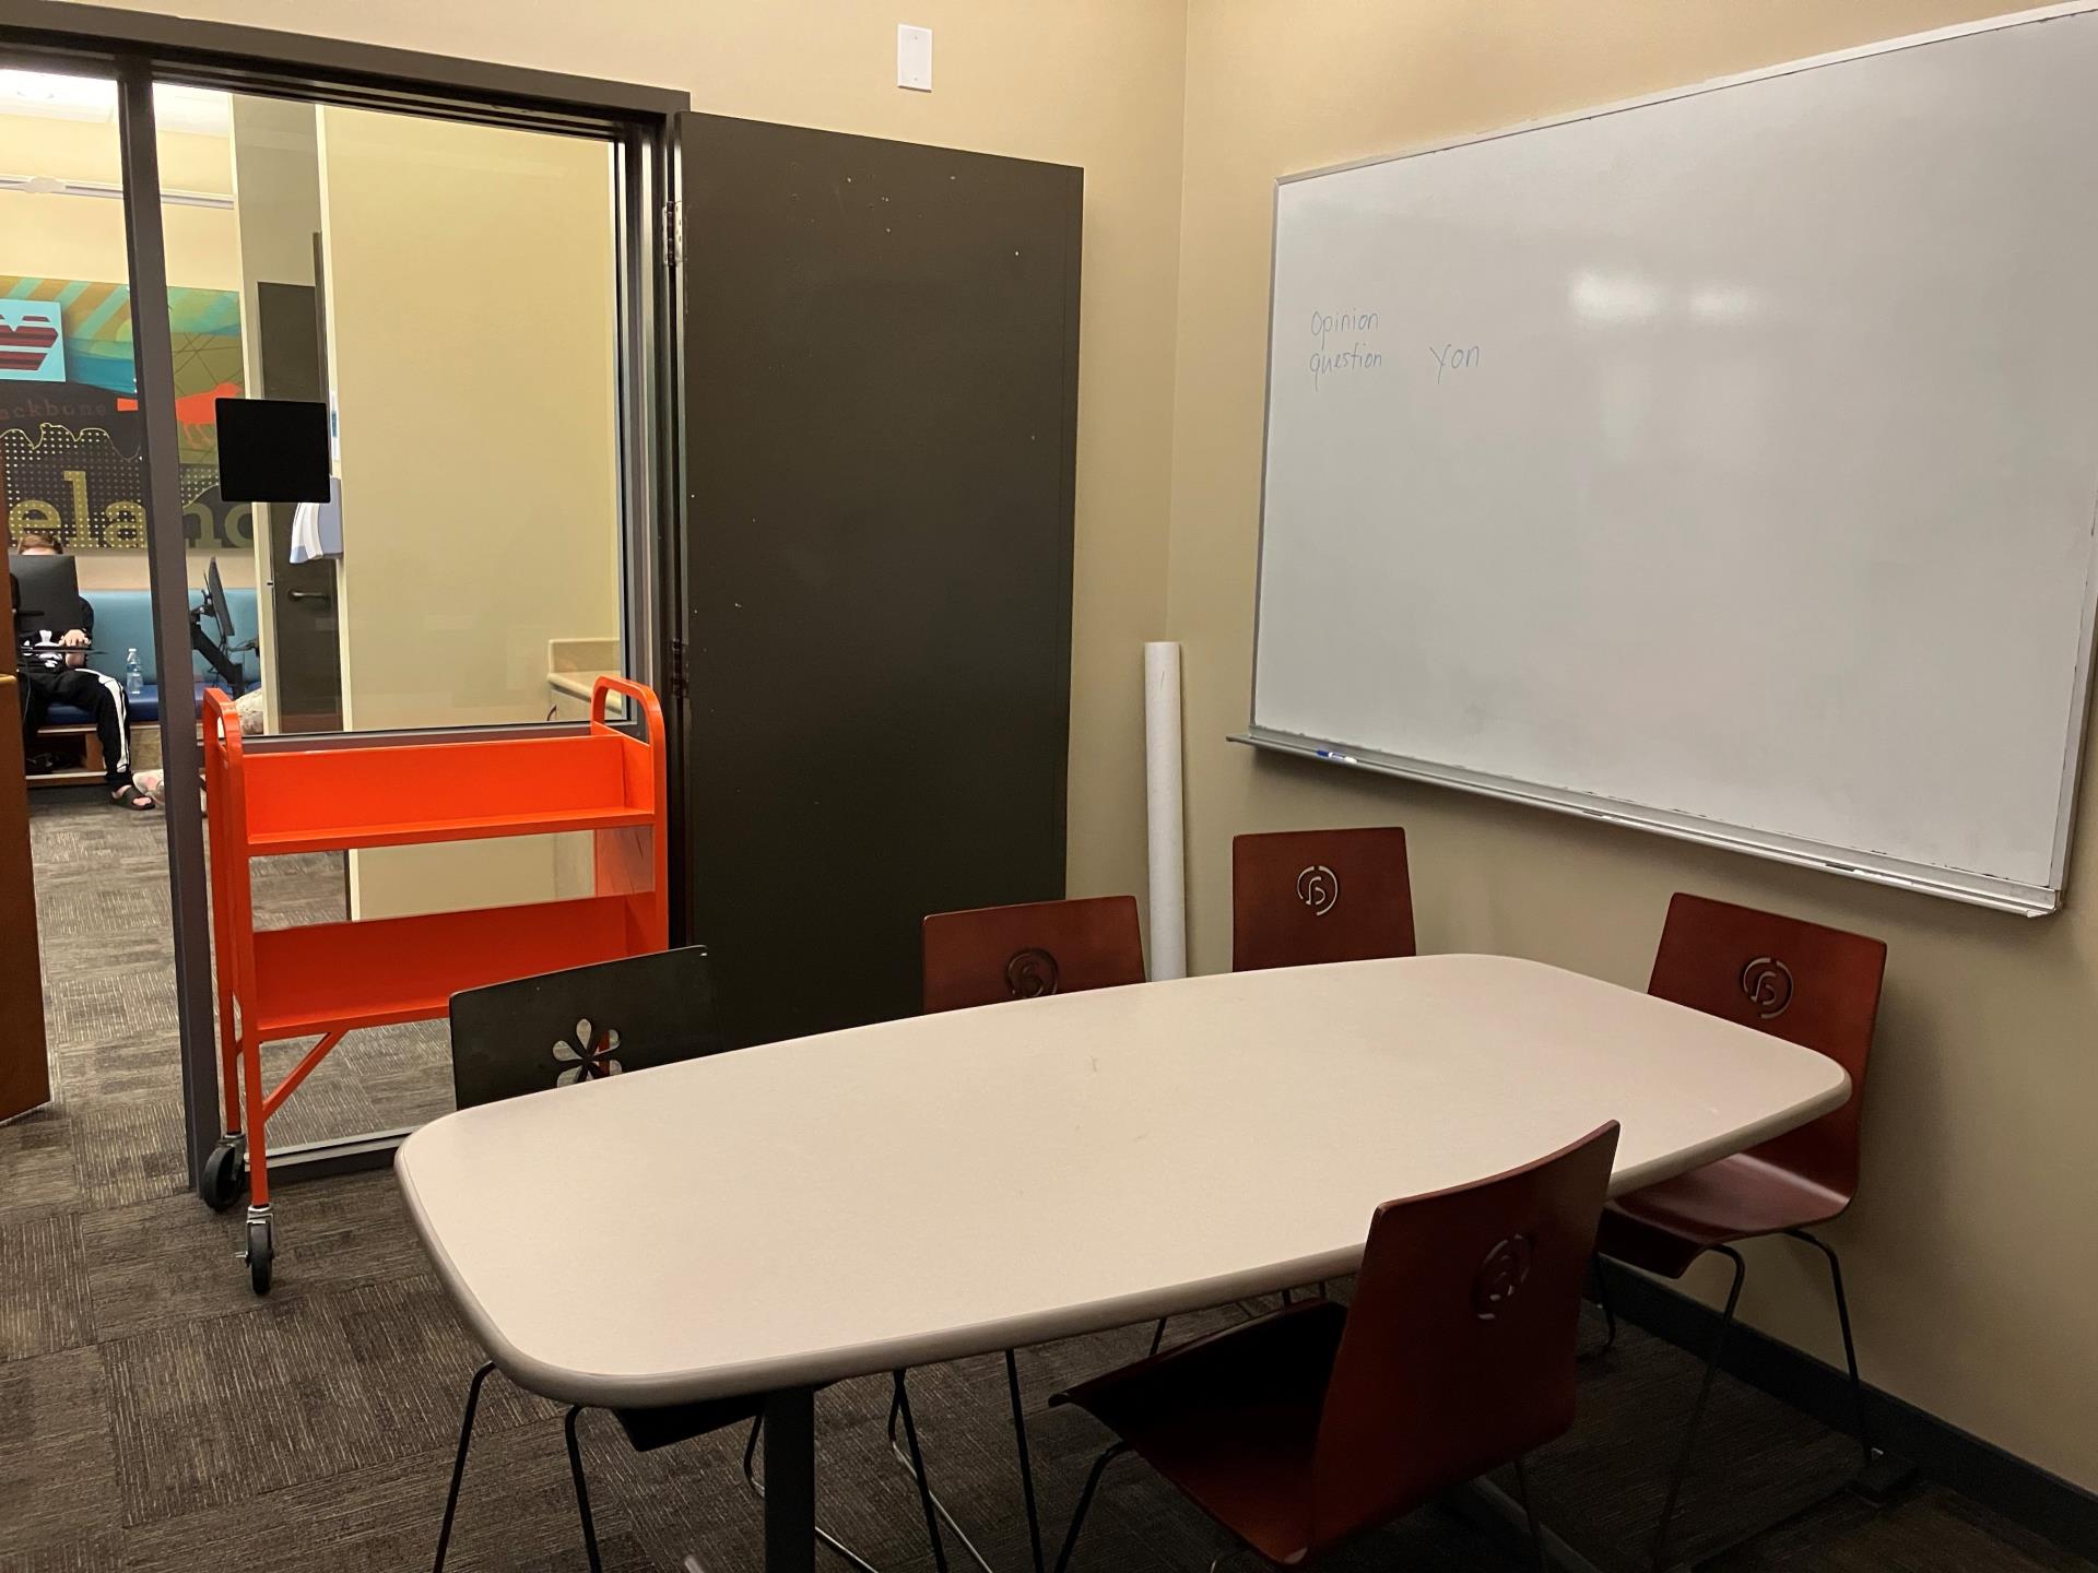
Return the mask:
[(726, 1047), (705, 946), (451, 996), (451, 1086), (462, 1109)]

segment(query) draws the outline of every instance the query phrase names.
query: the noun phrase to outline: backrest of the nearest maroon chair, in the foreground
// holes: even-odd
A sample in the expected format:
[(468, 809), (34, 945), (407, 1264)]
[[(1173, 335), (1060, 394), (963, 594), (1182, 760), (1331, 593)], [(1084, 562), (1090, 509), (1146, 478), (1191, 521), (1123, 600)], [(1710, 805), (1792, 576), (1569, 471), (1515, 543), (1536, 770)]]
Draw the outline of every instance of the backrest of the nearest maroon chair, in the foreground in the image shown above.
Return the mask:
[(1615, 1120), (1523, 1168), (1385, 1202), (1326, 1384), (1311, 1550), (1574, 1424), (1574, 1332)]

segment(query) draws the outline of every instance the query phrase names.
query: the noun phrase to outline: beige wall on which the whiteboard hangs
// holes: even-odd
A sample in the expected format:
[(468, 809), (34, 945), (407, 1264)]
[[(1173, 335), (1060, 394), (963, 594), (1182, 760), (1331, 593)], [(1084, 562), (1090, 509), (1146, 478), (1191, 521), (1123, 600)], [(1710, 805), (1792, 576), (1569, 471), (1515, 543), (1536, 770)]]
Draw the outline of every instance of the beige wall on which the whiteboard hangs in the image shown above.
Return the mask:
[[(2027, 921), (1223, 742), (1246, 721), (1271, 182), (1412, 143), (1934, 27), (1989, 0), (1194, 0), (1169, 625), (1187, 644), (1192, 954), (1229, 965), (1238, 831), (1408, 828), (1427, 950), (1643, 984), (1674, 889), (1890, 946), (1844, 1252), (1865, 1374), (2098, 1487), (2098, 814)], [(2085, 776), (2085, 797), (2098, 770)], [(2081, 893), (2081, 900), (2077, 896)], [(1712, 1288), (1712, 1277), (1699, 1277)], [(1750, 1321), (1840, 1359), (1825, 1277), (1752, 1252)]]

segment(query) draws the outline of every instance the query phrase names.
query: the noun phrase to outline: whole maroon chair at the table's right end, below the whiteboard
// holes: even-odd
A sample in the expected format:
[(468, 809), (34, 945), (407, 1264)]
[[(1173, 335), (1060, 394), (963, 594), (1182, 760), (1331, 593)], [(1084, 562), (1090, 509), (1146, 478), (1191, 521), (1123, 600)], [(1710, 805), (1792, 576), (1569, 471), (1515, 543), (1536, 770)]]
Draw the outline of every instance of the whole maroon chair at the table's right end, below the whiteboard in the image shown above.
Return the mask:
[(1676, 1495), (1689, 1470), (1697, 1422), (1712, 1393), (1712, 1374), (1718, 1370), (1733, 1311), (1741, 1298), (1746, 1263), (1733, 1248), (1741, 1240), (1783, 1233), (1806, 1242), (1827, 1260), (1836, 1290), (1836, 1319), (1842, 1323), (1842, 1353), (1850, 1372), (1857, 1439), (1865, 1462), (1871, 1464), (1871, 1435), (1865, 1428), (1865, 1395), (1857, 1376), (1857, 1346), (1850, 1342), (1842, 1263), (1832, 1246), (1808, 1233), (1808, 1227), (1838, 1216), (1857, 1191), (1865, 1059), (1880, 1013), (1884, 971), (1886, 944), (1861, 933), (1825, 929), (1819, 923), (1712, 902), (1704, 896), (1676, 893), (1668, 904), (1668, 923), (1662, 927), (1662, 946), (1653, 956), (1647, 992), (1827, 1055), (1850, 1074), (1850, 1099), (1840, 1109), (1760, 1147), (1618, 1198), (1603, 1212), (1597, 1248), (1615, 1260), (1662, 1277), (1683, 1277), (1708, 1250), (1733, 1263), (1733, 1286), (1727, 1290), (1718, 1338), (1697, 1401), (1691, 1405), (1691, 1424), (1653, 1537), (1657, 1569), (1666, 1567)]

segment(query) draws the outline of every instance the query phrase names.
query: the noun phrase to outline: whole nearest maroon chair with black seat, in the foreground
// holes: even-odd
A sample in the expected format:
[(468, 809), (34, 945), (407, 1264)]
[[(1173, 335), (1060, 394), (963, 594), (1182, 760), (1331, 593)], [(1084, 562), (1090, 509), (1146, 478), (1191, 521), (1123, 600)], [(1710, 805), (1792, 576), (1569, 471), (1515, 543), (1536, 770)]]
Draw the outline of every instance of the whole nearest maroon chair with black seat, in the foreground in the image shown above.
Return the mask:
[[(1059, 1395), (1246, 1546), (1297, 1567), (1574, 1424), (1574, 1330), (1615, 1122), (1370, 1219), (1353, 1302), (1301, 1300)], [(1542, 1567), (1542, 1542), (1540, 1567)]]

